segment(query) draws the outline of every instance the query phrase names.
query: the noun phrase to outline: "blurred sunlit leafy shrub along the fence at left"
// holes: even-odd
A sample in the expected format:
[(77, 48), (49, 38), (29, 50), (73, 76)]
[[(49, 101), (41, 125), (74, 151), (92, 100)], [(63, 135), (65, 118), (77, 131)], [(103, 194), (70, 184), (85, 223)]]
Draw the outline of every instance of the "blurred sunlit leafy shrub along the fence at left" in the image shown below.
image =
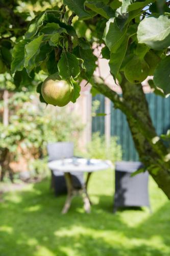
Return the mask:
[[(3, 108), (3, 101), (0, 106)], [(9, 112), (9, 125), (4, 126), (0, 122), (0, 145), (2, 150), (8, 148), (8, 164), (15, 172), (26, 171), (29, 166), (37, 173), (41, 172), (42, 164), (35, 159), (46, 157), (47, 143), (77, 141), (83, 129), (74, 111), (68, 108), (45, 108), (35, 93), (11, 93)]]

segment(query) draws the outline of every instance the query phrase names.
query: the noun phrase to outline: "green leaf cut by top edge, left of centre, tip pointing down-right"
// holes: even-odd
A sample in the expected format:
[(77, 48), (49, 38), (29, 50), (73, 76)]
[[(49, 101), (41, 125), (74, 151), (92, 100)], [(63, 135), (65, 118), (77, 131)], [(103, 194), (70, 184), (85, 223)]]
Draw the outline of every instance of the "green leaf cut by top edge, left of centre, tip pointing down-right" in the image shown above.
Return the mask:
[(67, 5), (72, 12), (75, 12), (80, 18), (90, 16), (84, 8), (85, 0), (63, 0), (63, 3), (64, 5)]

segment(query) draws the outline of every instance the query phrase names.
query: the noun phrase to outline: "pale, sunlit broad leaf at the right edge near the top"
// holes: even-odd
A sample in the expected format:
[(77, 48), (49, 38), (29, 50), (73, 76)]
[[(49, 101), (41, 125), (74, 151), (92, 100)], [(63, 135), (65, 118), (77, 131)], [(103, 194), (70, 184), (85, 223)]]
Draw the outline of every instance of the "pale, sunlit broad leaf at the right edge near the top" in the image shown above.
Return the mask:
[(138, 26), (137, 39), (140, 44), (155, 50), (167, 48), (170, 45), (170, 19), (165, 15), (144, 18)]

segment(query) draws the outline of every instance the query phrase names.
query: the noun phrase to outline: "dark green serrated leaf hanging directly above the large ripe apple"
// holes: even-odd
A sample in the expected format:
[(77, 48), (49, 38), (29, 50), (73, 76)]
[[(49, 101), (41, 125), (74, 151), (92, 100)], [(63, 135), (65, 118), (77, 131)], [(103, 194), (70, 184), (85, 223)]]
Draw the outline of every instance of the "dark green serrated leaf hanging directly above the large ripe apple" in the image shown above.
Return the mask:
[(79, 60), (69, 52), (63, 52), (58, 62), (59, 75), (63, 79), (78, 77), (80, 74)]

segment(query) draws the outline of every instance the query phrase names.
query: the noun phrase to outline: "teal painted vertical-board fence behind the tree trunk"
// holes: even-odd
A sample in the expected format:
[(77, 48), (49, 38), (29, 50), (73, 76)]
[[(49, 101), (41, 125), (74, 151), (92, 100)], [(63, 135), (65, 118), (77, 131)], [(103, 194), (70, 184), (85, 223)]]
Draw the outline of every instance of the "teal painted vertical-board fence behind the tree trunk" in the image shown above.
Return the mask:
[[(155, 94), (146, 94), (151, 117), (158, 135), (166, 133), (170, 128), (170, 97), (162, 98)], [(101, 102), (100, 108), (96, 113), (105, 112), (105, 99), (103, 95), (96, 95), (93, 100)], [(132, 140), (126, 116), (117, 109), (114, 109), (111, 103), (111, 136), (118, 137), (118, 143), (122, 145), (123, 160), (137, 161), (138, 153)], [(101, 135), (105, 133), (105, 117), (96, 116), (92, 118), (92, 132), (100, 132)]]

